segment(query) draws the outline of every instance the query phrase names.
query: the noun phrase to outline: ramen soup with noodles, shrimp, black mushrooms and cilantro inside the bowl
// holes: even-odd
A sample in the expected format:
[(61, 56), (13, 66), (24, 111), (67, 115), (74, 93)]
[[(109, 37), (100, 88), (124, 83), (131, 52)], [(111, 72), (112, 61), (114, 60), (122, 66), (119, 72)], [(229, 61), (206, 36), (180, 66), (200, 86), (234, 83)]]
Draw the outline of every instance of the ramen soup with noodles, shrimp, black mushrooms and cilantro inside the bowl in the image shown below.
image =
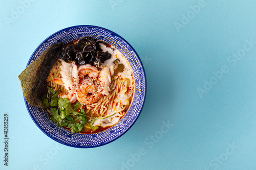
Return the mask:
[(129, 109), (134, 76), (115, 47), (90, 37), (69, 42), (46, 80), (42, 106), (58, 126), (97, 133), (115, 125)]

